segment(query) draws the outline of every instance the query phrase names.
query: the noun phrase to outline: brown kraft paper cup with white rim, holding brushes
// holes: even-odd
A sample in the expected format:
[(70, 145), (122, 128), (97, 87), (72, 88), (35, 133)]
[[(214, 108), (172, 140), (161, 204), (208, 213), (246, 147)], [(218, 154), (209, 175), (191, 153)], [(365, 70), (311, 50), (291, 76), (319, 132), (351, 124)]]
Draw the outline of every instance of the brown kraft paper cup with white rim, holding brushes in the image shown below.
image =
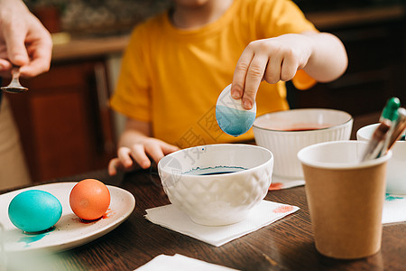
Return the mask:
[(392, 153), (361, 163), (366, 145), (334, 141), (298, 153), (315, 245), (327, 257), (355, 259), (381, 248), (386, 163)]

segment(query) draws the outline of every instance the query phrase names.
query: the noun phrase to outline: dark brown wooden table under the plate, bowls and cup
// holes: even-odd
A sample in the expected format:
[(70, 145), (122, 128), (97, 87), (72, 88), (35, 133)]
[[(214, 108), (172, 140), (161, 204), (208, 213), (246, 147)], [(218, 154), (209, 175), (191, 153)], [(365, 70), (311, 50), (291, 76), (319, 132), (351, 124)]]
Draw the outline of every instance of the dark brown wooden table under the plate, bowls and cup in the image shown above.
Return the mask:
[(78, 182), (88, 177), (132, 192), (136, 201), (134, 212), (105, 236), (58, 253), (41, 270), (134, 270), (160, 254), (176, 253), (235, 269), (255, 271), (404, 270), (406, 266), (406, 223), (385, 225), (382, 249), (372, 257), (336, 260), (318, 254), (303, 186), (268, 192), (265, 198), (299, 206), (300, 210), (216, 248), (144, 219), (146, 209), (169, 203), (156, 172), (109, 177), (106, 171), (100, 171), (52, 182)]

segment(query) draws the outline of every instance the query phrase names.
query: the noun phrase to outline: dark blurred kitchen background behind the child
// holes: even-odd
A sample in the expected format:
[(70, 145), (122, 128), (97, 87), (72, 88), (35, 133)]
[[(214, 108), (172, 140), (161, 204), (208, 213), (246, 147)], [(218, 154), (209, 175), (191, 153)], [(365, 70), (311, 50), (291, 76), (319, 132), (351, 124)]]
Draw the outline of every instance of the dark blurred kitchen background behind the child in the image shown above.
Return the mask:
[[(104, 169), (115, 156), (123, 119), (107, 100), (134, 25), (171, 0), (26, 0), (52, 33), (51, 70), (22, 83), (30, 91), (6, 94), (33, 182)], [(346, 45), (346, 74), (307, 91), (288, 83), (292, 108), (326, 107), (378, 121), (388, 98), (406, 100), (405, 0), (296, 0), (320, 31)], [(404, 104), (402, 105), (404, 106)]]

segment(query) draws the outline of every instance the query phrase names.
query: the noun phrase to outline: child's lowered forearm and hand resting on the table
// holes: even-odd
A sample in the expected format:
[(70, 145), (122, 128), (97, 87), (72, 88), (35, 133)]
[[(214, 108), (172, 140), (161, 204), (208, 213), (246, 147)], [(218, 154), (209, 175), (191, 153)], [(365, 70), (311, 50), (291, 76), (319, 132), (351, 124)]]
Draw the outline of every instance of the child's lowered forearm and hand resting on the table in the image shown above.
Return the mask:
[[(175, 145), (167, 144), (151, 137), (151, 124), (127, 118), (125, 131), (120, 137), (117, 157), (108, 164), (108, 173), (115, 175), (117, 169), (134, 170), (151, 166), (151, 159), (158, 163), (166, 154), (179, 150)], [(135, 163), (134, 163), (135, 162)]]

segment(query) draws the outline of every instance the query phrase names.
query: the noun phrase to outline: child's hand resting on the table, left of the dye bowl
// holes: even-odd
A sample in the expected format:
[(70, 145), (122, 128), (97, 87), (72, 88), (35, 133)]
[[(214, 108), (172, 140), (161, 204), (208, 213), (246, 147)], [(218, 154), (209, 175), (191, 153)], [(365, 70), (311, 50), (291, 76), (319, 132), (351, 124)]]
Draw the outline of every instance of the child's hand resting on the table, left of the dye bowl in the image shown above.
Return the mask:
[(115, 175), (117, 170), (130, 172), (141, 167), (147, 169), (151, 166), (151, 159), (158, 164), (163, 156), (178, 151), (179, 147), (167, 144), (159, 139), (147, 137), (140, 144), (134, 144), (132, 148), (122, 146), (117, 151), (116, 158), (108, 164), (108, 173)]

